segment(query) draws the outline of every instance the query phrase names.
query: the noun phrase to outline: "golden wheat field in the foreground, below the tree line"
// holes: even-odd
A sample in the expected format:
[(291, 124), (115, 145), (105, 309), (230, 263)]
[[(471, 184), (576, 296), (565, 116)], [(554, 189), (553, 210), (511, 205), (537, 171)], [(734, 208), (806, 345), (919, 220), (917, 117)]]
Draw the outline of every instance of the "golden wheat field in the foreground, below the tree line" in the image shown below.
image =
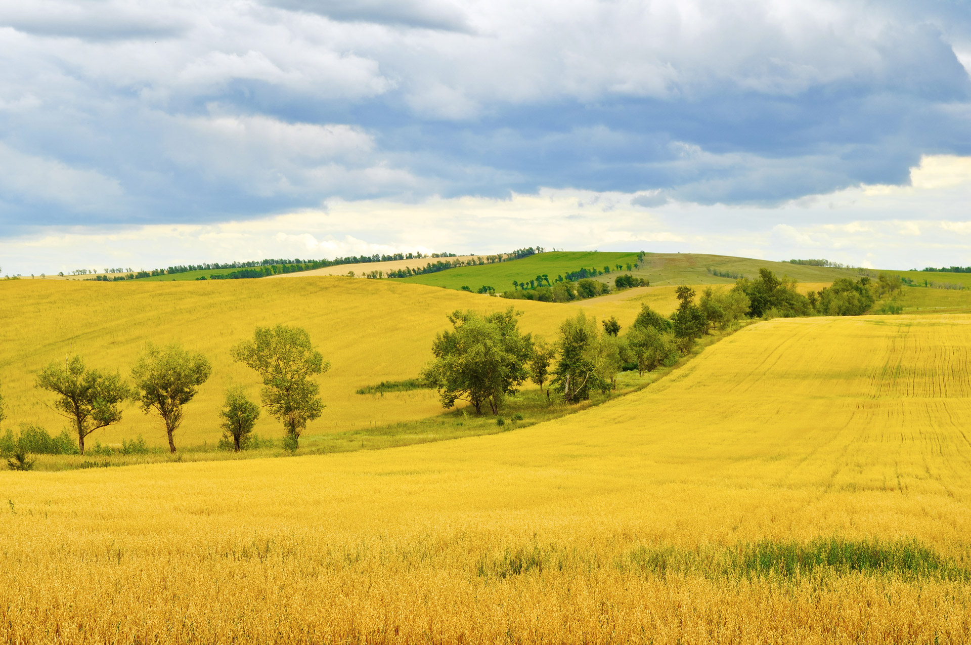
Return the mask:
[(967, 568), (969, 350), (968, 316), (759, 322), (648, 390), (498, 435), (0, 472), (0, 638), (968, 642), (966, 582), (634, 564), (835, 535)]

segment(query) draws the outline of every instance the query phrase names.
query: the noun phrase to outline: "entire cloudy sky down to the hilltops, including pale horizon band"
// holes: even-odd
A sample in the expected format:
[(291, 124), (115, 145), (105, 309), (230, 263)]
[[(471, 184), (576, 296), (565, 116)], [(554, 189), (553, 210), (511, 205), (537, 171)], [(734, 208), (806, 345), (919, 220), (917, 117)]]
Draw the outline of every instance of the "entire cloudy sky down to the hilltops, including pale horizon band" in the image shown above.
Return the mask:
[(0, 0), (0, 274), (971, 265), (964, 0)]

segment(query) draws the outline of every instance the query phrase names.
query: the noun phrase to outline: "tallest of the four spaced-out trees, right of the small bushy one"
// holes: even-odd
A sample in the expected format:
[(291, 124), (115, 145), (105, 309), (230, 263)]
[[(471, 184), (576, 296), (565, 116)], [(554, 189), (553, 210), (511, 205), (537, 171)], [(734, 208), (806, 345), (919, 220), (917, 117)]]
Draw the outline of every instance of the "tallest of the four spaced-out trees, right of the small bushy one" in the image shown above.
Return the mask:
[(303, 327), (256, 327), (253, 339), (231, 351), (233, 360), (256, 370), (263, 381), (260, 400), (286, 430), (285, 446), (296, 450), (309, 422), (323, 414), (320, 386), (310, 380), (330, 369)]

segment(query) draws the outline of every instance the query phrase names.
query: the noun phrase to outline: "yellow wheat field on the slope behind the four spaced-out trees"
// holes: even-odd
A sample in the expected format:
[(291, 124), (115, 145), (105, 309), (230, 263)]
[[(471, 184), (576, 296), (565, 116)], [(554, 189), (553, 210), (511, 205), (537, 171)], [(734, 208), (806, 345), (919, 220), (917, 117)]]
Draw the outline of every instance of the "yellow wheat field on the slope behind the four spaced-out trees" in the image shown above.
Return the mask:
[[(674, 292), (673, 288), (662, 289)], [(65, 426), (50, 410), (50, 394), (33, 387), (34, 375), (51, 360), (78, 353), (89, 366), (117, 368), (127, 376), (146, 341), (164, 344), (178, 340), (208, 356), (214, 371), (185, 408), (177, 446), (218, 441), (218, 410), (228, 385), (251, 385), (251, 395), (257, 395), (253, 373), (229, 356), (229, 348), (251, 337), (257, 324), (304, 326), (330, 360), (330, 371), (319, 378), (327, 408), (309, 425), (308, 435), (313, 435), (439, 414), (438, 397), (429, 390), (393, 392), (384, 397), (354, 391), (385, 380), (417, 377), (431, 357), (435, 333), (448, 327), (446, 314), (454, 309), (494, 311), (514, 304), (524, 312), (524, 329), (552, 338), (559, 322), (576, 315), (578, 307), (513, 302), (387, 281), (308, 276), (301, 280), (108, 284), (5, 281), (0, 283), (0, 300), (4, 303), (0, 308), (0, 384), (9, 405), (8, 426), (42, 424), (52, 434)], [(673, 297), (663, 300), (662, 309), (667, 300), (673, 303)], [(616, 315), (624, 325), (633, 322), (639, 306), (622, 299), (585, 303), (585, 309), (597, 318)], [(256, 431), (282, 436), (280, 424), (265, 415)], [(160, 422), (129, 404), (122, 423), (96, 431), (89, 443), (117, 445), (140, 434), (150, 444), (165, 443)]]

